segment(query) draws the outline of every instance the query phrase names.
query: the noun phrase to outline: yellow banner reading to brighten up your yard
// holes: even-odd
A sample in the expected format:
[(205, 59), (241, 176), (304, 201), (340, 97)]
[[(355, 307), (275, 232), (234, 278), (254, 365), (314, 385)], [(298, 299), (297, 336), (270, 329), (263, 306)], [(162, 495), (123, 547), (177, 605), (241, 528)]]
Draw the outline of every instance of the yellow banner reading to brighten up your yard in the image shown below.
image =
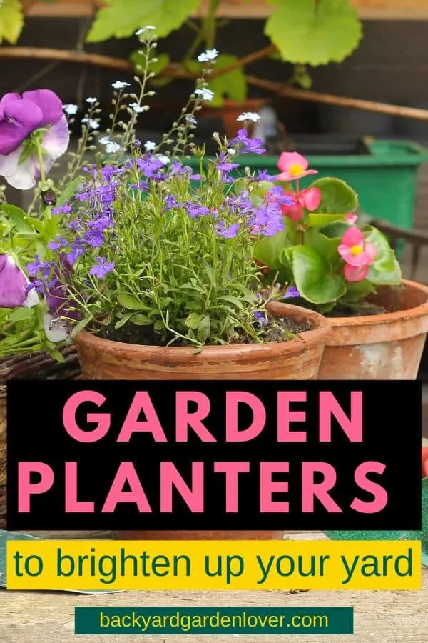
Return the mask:
[(7, 589), (421, 589), (419, 541), (7, 542)]

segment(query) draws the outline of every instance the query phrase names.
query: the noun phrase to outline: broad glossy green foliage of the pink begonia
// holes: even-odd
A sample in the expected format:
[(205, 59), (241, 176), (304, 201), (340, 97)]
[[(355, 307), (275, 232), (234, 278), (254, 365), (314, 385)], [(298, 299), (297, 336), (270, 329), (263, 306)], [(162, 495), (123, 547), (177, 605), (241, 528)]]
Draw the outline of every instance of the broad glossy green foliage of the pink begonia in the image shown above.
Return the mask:
[(357, 208), (357, 195), (339, 179), (317, 179), (310, 187), (321, 191), (318, 209), (304, 210), (300, 221), (287, 219), (285, 231), (258, 241), (255, 258), (269, 266), (281, 283), (295, 286), (301, 298), (322, 313), (336, 306), (351, 310), (367, 308), (365, 297), (373, 293), (376, 286), (401, 282), (394, 251), (379, 230), (363, 225), (360, 252), (365, 251), (365, 244), (373, 244), (376, 256), (372, 265), (364, 264), (367, 274), (362, 281), (347, 281), (346, 262), (339, 246), (350, 229), (344, 220), (345, 214)]

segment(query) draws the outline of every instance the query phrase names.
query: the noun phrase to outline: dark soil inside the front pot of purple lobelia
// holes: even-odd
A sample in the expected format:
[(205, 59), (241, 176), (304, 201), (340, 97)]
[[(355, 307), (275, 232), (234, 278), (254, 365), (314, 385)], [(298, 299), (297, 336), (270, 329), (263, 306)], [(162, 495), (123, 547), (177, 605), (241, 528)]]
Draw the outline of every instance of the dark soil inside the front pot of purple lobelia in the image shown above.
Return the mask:
[[(290, 339), (295, 339), (300, 333), (312, 329), (312, 324), (309, 321), (305, 324), (295, 324), (292, 319), (287, 317), (268, 317), (267, 320), (260, 326), (255, 322), (255, 331), (258, 332), (259, 337), (265, 343), (273, 342), (288, 342)], [(136, 326), (136, 324), (126, 324), (126, 326), (119, 329), (106, 329), (101, 337), (110, 339), (113, 342), (124, 342), (125, 344), (138, 344), (140, 346), (166, 346), (173, 335), (169, 336), (156, 333), (150, 327)], [(253, 337), (248, 337), (243, 332), (237, 332), (236, 337), (230, 344), (256, 344)], [(178, 339), (173, 343), (173, 346), (194, 346), (184, 339)]]

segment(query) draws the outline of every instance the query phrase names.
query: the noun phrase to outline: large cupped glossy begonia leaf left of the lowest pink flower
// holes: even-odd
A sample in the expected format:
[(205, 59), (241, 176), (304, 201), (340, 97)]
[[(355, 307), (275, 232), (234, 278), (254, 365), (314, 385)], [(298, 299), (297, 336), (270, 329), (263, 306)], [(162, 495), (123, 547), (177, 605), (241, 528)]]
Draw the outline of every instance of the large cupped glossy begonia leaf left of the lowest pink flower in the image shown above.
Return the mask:
[(325, 258), (308, 246), (292, 249), (292, 272), (297, 290), (311, 304), (328, 304), (346, 293), (342, 277), (332, 274)]

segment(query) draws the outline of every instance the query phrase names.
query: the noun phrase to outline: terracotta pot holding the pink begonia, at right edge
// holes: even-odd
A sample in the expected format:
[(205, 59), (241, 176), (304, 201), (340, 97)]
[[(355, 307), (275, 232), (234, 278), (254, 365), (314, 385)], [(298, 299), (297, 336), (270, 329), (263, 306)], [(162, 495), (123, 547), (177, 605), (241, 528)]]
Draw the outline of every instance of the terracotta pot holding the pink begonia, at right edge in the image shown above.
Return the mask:
[(416, 379), (428, 332), (428, 287), (379, 286), (388, 313), (333, 317), (318, 379)]

